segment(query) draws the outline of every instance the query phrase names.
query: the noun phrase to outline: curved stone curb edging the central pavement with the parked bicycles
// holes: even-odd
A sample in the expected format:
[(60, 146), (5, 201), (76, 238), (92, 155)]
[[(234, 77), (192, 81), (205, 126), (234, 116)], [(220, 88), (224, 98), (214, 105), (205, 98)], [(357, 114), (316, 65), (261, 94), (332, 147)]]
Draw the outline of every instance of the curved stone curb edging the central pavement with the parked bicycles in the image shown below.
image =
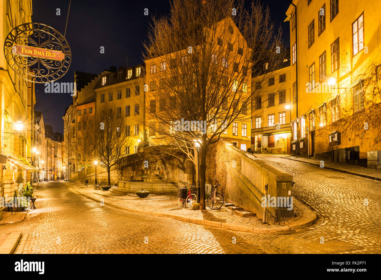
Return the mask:
[[(70, 187), (70, 186), (69, 186)], [(83, 194), (79, 192), (78, 190), (70, 187), (70, 189), (74, 190), (80, 195), (83, 195), (84, 197), (87, 197), (91, 200), (101, 202), (97, 198), (90, 197), (89, 195)], [(297, 201), (295, 198), (293, 201)], [(144, 215), (150, 215), (150, 216), (158, 216), (158, 217), (163, 217), (163, 218), (170, 218), (182, 222), (189, 222), (192, 224), (199, 224), (202, 226), (212, 226), (212, 227), (220, 227), (224, 229), (230, 229), (230, 230), (237, 230), (237, 231), (243, 231), (243, 232), (253, 232), (253, 233), (273, 233), (273, 232), (290, 232), (291, 230), (296, 230), (296, 229), (301, 229), (303, 227), (309, 226), (313, 224), (316, 221), (316, 215), (313, 213), (309, 208), (304, 206), (302, 203), (298, 202), (298, 208), (302, 209), (303, 211), (307, 211), (307, 213), (302, 214), (302, 217), (297, 219), (296, 221), (290, 222), (290, 224), (285, 225), (285, 226), (264, 226), (263, 228), (261, 227), (253, 227), (253, 226), (247, 226), (243, 224), (231, 224), (227, 222), (217, 222), (217, 221), (210, 221), (210, 220), (205, 220), (205, 219), (200, 219), (200, 218), (192, 218), (188, 216), (182, 216), (182, 215), (174, 215), (174, 214), (167, 214), (163, 212), (150, 212), (150, 211), (142, 211), (142, 210), (136, 210), (136, 209), (131, 209), (127, 207), (120, 207), (118, 205), (113, 205), (111, 203), (106, 203), (104, 202), (105, 205), (112, 206), (114, 208), (117, 208), (119, 210), (123, 211), (128, 211), (130, 213), (136, 213), (136, 214), (144, 214)], [(303, 207), (301, 207), (303, 205)]]

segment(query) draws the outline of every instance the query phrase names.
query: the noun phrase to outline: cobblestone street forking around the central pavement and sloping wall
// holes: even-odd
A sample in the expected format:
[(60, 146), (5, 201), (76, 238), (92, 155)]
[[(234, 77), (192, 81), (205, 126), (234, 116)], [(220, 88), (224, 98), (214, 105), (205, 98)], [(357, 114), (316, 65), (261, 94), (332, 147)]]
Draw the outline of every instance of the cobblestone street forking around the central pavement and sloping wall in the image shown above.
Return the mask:
[(260, 157), (293, 174), (293, 193), (318, 215), (315, 224), (287, 234), (235, 232), (128, 213), (85, 198), (64, 182), (47, 182), (35, 192), (37, 209), (22, 222), (0, 225), (0, 235), (29, 234), (22, 253), (381, 251), (381, 182), (286, 158)]

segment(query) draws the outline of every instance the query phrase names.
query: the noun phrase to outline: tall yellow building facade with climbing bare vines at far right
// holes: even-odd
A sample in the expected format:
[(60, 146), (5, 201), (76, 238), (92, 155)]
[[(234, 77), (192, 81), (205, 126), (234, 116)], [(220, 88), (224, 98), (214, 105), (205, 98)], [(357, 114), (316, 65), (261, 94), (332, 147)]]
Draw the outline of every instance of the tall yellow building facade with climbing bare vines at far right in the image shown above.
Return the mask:
[(367, 165), (367, 152), (381, 149), (372, 75), (381, 61), (380, 8), (355, 0), (288, 7), (293, 155)]

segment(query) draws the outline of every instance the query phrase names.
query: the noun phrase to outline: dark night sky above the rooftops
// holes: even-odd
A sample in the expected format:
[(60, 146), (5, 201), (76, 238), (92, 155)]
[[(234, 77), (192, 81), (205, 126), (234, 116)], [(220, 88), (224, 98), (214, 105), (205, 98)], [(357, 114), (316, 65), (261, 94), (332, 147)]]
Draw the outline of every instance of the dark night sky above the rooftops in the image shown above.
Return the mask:
[[(263, 0), (271, 8), (276, 26), (283, 28), (285, 46), (289, 45), (289, 22), (283, 22), (290, 1)], [(249, 3), (249, 1), (248, 1)], [(134, 66), (142, 63), (142, 42), (146, 40), (151, 13), (169, 13), (167, 0), (73, 0), (70, 5), (66, 40), (72, 52), (70, 69), (58, 82), (73, 82), (74, 71), (99, 74), (110, 66)], [(61, 15), (56, 15), (56, 9)], [(47, 24), (64, 34), (69, 0), (32, 0), (32, 21)], [(150, 15), (144, 16), (144, 8)], [(100, 47), (104, 46), (104, 54)], [(128, 61), (126, 61), (128, 56)], [(70, 93), (45, 93), (36, 84), (36, 111), (41, 111), (45, 124), (63, 133)]]

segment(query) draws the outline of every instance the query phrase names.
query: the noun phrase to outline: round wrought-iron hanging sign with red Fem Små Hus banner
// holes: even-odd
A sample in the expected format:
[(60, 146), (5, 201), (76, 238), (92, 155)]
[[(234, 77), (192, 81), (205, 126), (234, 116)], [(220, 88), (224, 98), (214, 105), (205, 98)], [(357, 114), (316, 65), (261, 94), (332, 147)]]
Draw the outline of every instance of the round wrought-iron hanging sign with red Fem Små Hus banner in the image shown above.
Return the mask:
[(53, 27), (36, 22), (21, 24), (9, 32), (4, 55), (14, 72), (34, 83), (58, 80), (71, 62), (66, 38)]

